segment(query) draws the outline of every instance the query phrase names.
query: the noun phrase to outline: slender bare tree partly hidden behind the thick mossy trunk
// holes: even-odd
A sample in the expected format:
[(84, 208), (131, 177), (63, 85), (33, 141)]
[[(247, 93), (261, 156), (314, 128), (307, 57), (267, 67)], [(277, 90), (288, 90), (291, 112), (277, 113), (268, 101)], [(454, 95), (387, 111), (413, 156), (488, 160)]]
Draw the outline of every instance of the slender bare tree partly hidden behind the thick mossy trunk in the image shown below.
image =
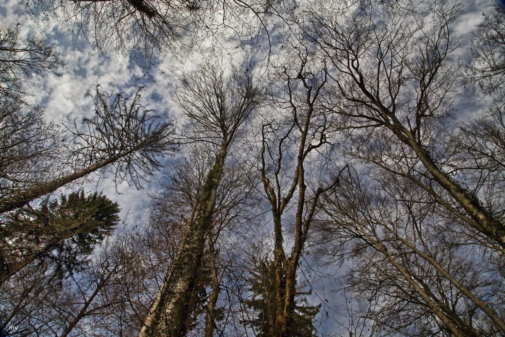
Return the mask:
[[(213, 162), (214, 159), (205, 152), (193, 150), (183, 161), (172, 166), (162, 184), (161, 194), (153, 196), (151, 203), (153, 212), (158, 214), (157, 219), (179, 222), (186, 230), (187, 223), (194, 220), (198, 208), (196, 201), (203, 192)], [(255, 200), (251, 199), (251, 190), (256, 184), (251, 183), (251, 179), (256, 175), (252, 171), (250, 166), (244, 167), (233, 160), (227, 162), (223, 171), (211, 229), (207, 233), (190, 310), (186, 315), (185, 333), (188, 335), (213, 336), (216, 332), (222, 333), (229, 324), (224, 316), (231, 310), (229, 297), (233, 294), (224, 292), (224, 287), (230, 282), (231, 270), (241, 267), (240, 264), (237, 266), (237, 256), (241, 255), (237, 240), (246, 235), (241, 234), (244, 231), (241, 227), (248, 228), (248, 223), (255, 217), (257, 200), (256, 203), (251, 201)]]

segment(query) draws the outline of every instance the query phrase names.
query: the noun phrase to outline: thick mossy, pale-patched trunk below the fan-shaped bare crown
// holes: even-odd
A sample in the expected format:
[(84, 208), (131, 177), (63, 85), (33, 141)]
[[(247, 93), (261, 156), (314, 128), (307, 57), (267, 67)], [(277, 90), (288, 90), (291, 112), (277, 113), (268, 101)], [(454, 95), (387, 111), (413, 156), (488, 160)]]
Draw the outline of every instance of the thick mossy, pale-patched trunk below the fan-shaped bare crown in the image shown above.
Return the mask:
[[(193, 223), (189, 224), (181, 243), (179, 254), (160, 294), (150, 326), (144, 323), (139, 337), (178, 337), (185, 333), (191, 294), (204, 253), (205, 238), (212, 226), (212, 213), (216, 204), (217, 189), (223, 172), (227, 142), (223, 141), (216, 162), (204, 185), (204, 193)], [(156, 304), (156, 303), (155, 303)]]

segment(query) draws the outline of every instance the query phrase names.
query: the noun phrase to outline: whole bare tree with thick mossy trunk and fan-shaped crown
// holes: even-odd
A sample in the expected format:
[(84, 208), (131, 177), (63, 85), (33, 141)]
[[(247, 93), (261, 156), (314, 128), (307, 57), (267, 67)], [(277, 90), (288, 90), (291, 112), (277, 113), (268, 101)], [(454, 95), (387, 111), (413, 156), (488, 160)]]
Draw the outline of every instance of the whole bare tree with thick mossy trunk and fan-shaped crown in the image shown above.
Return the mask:
[(241, 125), (259, 104), (259, 90), (250, 74), (233, 70), (225, 79), (217, 64), (209, 63), (198, 73), (187, 74), (181, 78), (181, 83), (178, 104), (188, 120), (185, 132), (190, 141), (208, 143), (215, 159), (197, 200), (194, 219), (187, 224), (177, 257), (139, 336), (178, 336), (184, 333), (184, 320), (201, 265), (205, 239), (213, 225), (212, 216), (226, 157)]

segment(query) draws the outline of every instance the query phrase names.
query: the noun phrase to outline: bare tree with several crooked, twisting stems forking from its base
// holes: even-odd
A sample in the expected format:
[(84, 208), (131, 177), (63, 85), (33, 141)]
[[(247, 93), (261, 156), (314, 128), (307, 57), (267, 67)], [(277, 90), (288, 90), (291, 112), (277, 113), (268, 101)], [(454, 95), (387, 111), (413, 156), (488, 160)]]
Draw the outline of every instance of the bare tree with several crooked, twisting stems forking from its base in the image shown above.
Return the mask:
[[(297, 47), (296, 47), (297, 48)], [(274, 91), (279, 117), (267, 117), (262, 126), (260, 172), (265, 198), (273, 217), (275, 317), (270, 317), (269, 331), (275, 336), (290, 336), (295, 325), (294, 298), (297, 268), (307, 242), (312, 220), (320, 209), (322, 193), (338, 183), (339, 172), (331, 165), (332, 139), (327, 137), (332, 115), (320, 108), (320, 95), (327, 74), (317, 73), (310, 53), (300, 51), (280, 67)], [(293, 69), (294, 68), (294, 69)], [(317, 69), (317, 68), (316, 68)], [(333, 140), (334, 141), (334, 140)], [(309, 164), (310, 162), (310, 164)], [(316, 164), (317, 163), (317, 164)], [(316, 172), (328, 170), (334, 177), (323, 185)], [(309, 170), (310, 173), (307, 172)], [(288, 214), (292, 217), (289, 219)], [(286, 234), (289, 229), (292, 234)], [(286, 252), (285, 241), (290, 249)]]

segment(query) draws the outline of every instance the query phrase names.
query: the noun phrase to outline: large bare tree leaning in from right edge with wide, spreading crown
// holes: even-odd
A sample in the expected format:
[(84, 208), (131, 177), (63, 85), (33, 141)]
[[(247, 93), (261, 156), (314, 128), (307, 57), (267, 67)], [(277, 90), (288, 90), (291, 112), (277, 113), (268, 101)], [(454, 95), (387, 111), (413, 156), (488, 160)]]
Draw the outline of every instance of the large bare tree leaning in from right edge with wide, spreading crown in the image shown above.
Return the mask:
[(505, 247), (503, 223), (469, 192), (465, 181), (450, 176), (433, 150), (442, 140), (435, 137), (433, 125), (447, 120), (456, 99), (459, 65), (451, 27), (461, 6), (430, 4), (425, 11), (433, 20), (428, 25), (426, 13), (415, 5), (363, 4), (343, 16), (310, 13), (310, 33), (317, 38), (309, 38), (331, 65), (334, 86), (327, 105), (349, 126), (389, 130), (412, 149), (427, 170), (426, 178), (450, 196), (441, 204), (457, 211), (450, 205), (458, 203), (470, 226)]

